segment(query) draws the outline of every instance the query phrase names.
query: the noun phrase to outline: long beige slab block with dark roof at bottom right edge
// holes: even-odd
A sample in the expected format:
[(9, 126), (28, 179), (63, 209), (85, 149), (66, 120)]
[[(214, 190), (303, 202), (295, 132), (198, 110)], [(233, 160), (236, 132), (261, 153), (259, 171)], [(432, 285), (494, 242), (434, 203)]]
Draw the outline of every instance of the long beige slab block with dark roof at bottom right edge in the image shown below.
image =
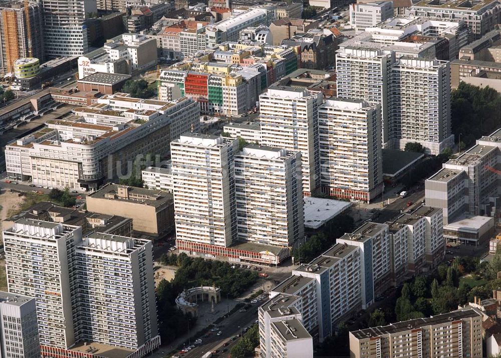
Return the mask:
[(350, 332), (350, 356), (482, 356), (482, 313), (458, 310)]

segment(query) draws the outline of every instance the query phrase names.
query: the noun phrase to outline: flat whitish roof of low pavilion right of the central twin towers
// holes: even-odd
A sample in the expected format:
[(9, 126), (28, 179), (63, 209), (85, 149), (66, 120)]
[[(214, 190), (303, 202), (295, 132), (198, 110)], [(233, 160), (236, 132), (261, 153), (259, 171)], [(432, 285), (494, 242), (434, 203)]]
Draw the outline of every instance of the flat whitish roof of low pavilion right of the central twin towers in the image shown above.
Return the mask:
[(334, 199), (307, 197), (305, 201), (305, 227), (318, 229), (326, 222), (352, 206), (352, 203)]

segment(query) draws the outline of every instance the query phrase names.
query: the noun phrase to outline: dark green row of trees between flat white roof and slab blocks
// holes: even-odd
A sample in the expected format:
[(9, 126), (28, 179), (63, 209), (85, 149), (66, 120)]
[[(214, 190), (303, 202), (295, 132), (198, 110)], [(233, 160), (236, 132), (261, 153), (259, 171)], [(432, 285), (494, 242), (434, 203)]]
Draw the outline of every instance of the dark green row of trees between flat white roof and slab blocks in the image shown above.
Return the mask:
[(292, 255), (297, 262), (309, 262), (336, 243), (336, 239), (353, 231), (354, 221), (348, 214), (340, 214), (326, 224), (323, 231), (313, 235)]

